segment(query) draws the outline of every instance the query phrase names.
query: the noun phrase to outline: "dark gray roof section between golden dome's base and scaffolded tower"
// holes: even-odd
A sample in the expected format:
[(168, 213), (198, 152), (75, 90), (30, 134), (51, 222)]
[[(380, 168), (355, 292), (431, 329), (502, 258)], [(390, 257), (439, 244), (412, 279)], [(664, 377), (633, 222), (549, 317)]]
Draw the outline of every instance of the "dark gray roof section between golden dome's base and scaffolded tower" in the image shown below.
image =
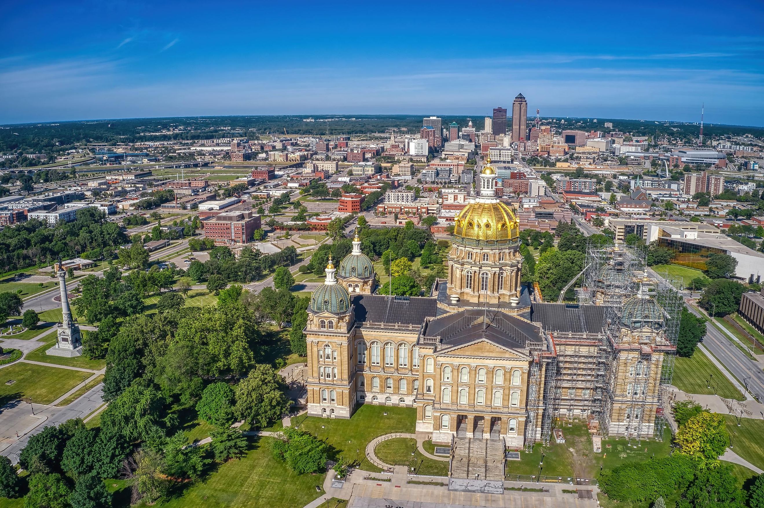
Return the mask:
[(531, 305), (531, 321), (541, 323), (548, 332), (601, 333), (605, 319), (602, 305), (541, 304)]

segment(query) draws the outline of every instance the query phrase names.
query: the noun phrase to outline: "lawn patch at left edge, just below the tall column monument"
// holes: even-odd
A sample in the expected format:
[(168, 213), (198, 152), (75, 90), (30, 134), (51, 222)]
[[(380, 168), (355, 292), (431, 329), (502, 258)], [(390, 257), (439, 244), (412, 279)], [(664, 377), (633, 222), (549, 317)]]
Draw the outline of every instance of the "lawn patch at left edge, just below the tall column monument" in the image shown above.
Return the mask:
[[(0, 369), (0, 397), (5, 402), (29, 398), (35, 404), (50, 404), (89, 377), (89, 372), (16, 362)], [(16, 382), (5, 384), (11, 379)]]

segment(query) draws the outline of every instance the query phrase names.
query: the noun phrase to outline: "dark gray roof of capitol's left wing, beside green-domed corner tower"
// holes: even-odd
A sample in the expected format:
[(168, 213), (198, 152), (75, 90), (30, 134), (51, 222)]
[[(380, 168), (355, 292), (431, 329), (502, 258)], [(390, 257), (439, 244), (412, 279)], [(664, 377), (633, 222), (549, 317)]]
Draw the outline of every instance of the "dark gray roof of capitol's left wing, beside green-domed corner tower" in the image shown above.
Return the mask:
[(389, 297), (384, 294), (360, 294), (352, 299), (355, 320), (374, 323), (420, 325), (426, 317), (435, 317), (438, 301), (425, 297)]

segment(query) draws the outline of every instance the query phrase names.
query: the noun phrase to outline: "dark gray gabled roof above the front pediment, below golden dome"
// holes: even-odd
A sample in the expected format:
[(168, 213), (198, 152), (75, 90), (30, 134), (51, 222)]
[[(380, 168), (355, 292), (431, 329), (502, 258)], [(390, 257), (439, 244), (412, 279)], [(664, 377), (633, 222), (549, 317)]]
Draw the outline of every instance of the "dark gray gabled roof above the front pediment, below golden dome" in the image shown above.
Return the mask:
[(498, 346), (524, 349), (528, 342), (542, 342), (539, 326), (500, 310), (461, 310), (427, 323), (423, 335), (438, 336), (445, 347), (486, 339)]

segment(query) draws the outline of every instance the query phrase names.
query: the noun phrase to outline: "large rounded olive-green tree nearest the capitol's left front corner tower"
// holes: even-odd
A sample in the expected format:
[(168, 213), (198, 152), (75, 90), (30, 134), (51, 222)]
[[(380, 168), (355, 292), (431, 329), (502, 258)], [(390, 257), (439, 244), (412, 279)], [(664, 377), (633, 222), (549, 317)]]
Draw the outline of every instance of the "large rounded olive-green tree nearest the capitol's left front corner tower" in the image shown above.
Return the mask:
[(236, 387), (235, 414), (261, 428), (280, 420), (290, 407), (283, 377), (270, 365), (255, 365)]

